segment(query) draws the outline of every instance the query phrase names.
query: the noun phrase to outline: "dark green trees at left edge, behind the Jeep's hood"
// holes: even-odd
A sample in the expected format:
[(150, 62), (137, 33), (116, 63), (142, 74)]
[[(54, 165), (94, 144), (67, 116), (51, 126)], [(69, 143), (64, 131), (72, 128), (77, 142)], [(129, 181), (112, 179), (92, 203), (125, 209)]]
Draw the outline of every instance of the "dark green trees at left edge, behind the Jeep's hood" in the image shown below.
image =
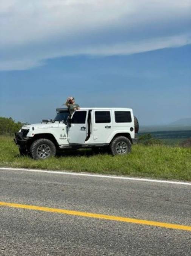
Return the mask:
[(14, 132), (18, 132), (23, 125), (27, 123), (15, 122), (12, 117), (6, 118), (0, 116), (0, 135), (14, 135)]

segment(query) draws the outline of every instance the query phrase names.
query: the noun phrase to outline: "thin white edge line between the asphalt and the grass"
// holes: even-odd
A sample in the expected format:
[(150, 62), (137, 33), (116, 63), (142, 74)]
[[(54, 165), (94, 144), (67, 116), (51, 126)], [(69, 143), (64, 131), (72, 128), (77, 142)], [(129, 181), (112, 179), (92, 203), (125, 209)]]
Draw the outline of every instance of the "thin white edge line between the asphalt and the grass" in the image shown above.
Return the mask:
[(78, 175), (78, 176), (88, 176), (88, 177), (101, 177), (109, 179), (126, 179), (132, 181), (149, 181), (149, 182), (161, 182), (168, 184), (179, 184), (179, 185), (191, 185), (191, 182), (180, 182), (180, 181), (163, 181), (159, 179), (144, 179), (144, 178), (135, 178), (135, 177), (123, 177), (123, 176), (110, 176), (110, 175), (99, 175), (99, 174), (88, 174), (88, 173), (73, 173), (68, 171), (47, 171), (47, 170), (37, 170), (37, 169), (25, 169), (25, 168), (7, 168), (0, 167), (0, 170), (9, 170), (9, 171), (34, 171), (37, 173), (54, 173), (54, 174), (66, 174), (66, 175)]

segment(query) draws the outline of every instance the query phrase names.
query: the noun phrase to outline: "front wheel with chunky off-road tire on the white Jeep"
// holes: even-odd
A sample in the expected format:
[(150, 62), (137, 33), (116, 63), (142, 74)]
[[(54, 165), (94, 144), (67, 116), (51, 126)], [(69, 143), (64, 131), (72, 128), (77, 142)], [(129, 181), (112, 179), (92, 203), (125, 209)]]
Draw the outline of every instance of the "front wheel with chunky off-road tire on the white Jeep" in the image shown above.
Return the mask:
[[(40, 156), (40, 155), (43, 155), (43, 152), (42, 152), (42, 154), (40, 154), (40, 152), (39, 152), (40, 147), (43, 147), (43, 145), (45, 145), (44, 148), (47, 149), (47, 152), (44, 153), (44, 155), (45, 155), (44, 157)], [(42, 138), (42, 139), (35, 140), (31, 144), (30, 153), (31, 153), (31, 156), (33, 159), (47, 159), (50, 156), (55, 156), (56, 147), (51, 140)], [(47, 154), (47, 156), (46, 156), (46, 154)]]

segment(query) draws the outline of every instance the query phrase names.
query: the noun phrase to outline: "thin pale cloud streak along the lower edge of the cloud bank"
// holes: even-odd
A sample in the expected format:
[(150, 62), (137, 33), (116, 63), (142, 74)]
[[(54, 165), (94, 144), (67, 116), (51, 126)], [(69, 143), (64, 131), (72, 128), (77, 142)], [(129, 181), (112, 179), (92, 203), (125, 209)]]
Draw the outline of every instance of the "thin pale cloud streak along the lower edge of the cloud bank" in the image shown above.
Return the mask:
[(51, 47), (50, 50), (36, 49), (35, 54), (28, 54), (26, 57), (19, 57), (16, 60), (0, 61), (0, 70), (23, 70), (42, 66), (46, 63), (46, 59), (56, 58), (60, 56), (74, 55), (93, 55), (93, 56), (109, 56), (109, 55), (129, 55), (133, 53), (148, 52), (151, 50), (164, 49), (168, 47), (180, 47), (191, 44), (190, 35), (171, 36), (165, 38), (154, 38), (142, 40), (139, 42), (123, 42), (120, 44), (110, 45), (91, 45), (85, 48), (67, 48), (56, 49)]

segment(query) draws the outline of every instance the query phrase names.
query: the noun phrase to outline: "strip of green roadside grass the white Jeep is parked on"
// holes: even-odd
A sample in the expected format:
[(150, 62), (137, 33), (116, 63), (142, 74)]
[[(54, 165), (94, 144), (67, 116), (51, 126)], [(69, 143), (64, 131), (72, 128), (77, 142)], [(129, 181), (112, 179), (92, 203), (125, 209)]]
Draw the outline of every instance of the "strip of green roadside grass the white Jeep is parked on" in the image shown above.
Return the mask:
[(191, 181), (191, 148), (132, 146), (131, 154), (93, 154), (91, 149), (65, 151), (46, 160), (20, 156), (11, 137), (0, 137), (0, 166), (48, 170), (73, 170)]

